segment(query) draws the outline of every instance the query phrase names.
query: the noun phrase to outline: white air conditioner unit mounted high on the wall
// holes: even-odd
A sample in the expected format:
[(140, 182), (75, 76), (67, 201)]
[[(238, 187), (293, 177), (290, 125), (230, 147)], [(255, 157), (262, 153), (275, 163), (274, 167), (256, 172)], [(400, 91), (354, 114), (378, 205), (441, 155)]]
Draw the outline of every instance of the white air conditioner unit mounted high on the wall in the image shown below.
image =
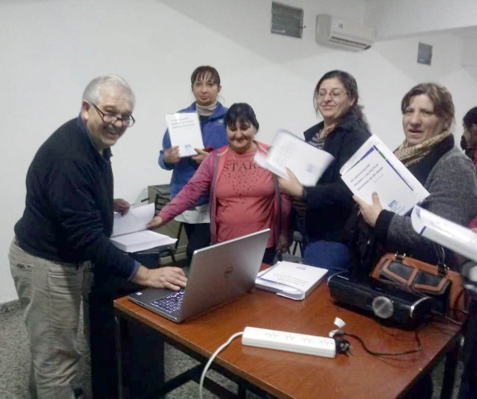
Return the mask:
[(349, 50), (366, 50), (374, 39), (374, 28), (336, 18), (332, 15), (316, 16), (316, 42)]

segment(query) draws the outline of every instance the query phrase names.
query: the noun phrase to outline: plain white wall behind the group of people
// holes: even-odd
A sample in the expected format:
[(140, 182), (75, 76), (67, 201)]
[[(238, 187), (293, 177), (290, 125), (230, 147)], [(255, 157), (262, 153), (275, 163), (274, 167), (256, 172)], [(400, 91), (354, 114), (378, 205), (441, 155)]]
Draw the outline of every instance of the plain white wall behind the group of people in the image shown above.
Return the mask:
[[(277, 127), (297, 135), (316, 123), (314, 84), (331, 69), (351, 72), (372, 131), (391, 147), (403, 139), (399, 104), (417, 82), (444, 83), (458, 126), (475, 105), (477, 82), (462, 68), (462, 42), (451, 35), (377, 42), (365, 52), (325, 48), (314, 40), (315, 16), (363, 19), (354, 0), (293, 0), (305, 11), (302, 39), (272, 35), (268, 0), (3, 1), (0, 3), (0, 303), (16, 298), (7, 260), (25, 202), (25, 175), (38, 146), (79, 112), (84, 86), (117, 73), (131, 84), (137, 124), (113, 147), (115, 195), (133, 202), (150, 184), (168, 183), (157, 155), (164, 115), (189, 105), (190, 74), (212, 64), (223, 102), (250, 103), (269, 141)], [(433, 65), (417, 65), (419, 39), (435, 46)], [(458, 129), (458, 136), (460, 130)], [(67, 151), (67, 149), (65, 149)]]

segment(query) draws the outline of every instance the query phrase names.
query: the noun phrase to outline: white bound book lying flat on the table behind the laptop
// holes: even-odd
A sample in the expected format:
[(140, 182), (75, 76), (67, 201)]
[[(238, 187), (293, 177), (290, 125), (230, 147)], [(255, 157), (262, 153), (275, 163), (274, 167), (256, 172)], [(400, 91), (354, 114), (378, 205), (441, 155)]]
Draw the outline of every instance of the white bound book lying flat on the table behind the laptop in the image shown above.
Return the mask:
[(282, 297), (302, 300), (323, 281), (326, 273), (327, 269), (283, 261), (260, 272), (255, 286)]

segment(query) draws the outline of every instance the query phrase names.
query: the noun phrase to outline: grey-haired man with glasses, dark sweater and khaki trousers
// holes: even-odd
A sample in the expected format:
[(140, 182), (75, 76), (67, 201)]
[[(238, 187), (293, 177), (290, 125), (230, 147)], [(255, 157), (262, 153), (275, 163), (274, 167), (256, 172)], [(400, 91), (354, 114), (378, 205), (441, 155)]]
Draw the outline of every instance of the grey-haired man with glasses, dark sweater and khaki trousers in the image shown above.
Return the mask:
[(76, 340), (88, 262), (95, 274), (135, 284), (173, 290), (186, 284), (181, 269), (147, 269), (109, 240), (113, 211), (129, 209), (126, 201), (113, 200), (109, 147), (133, 125), (133, 108), (134, 94), (122, 78), (92, 80), (78, 118), (41, 145), (28, 170), (26, 207), (9, 259), (25, 309), (32, 397), (80, 395), (71, 382), (80, 358)]

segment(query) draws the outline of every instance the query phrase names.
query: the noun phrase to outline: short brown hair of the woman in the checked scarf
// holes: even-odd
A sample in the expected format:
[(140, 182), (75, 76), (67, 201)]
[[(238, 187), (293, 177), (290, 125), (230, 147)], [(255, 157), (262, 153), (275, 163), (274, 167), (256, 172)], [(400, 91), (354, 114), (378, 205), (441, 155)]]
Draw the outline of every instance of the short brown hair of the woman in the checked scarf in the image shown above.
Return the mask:
[(454, 103), (449, 91), (437, 83), (420, 83), (408, 91), (401, 101), (401, 112), (409, 106), (411, 99), (415, 96), (425, 94), (434, 105), (434, 113), (450, 124), (454, 120)]

